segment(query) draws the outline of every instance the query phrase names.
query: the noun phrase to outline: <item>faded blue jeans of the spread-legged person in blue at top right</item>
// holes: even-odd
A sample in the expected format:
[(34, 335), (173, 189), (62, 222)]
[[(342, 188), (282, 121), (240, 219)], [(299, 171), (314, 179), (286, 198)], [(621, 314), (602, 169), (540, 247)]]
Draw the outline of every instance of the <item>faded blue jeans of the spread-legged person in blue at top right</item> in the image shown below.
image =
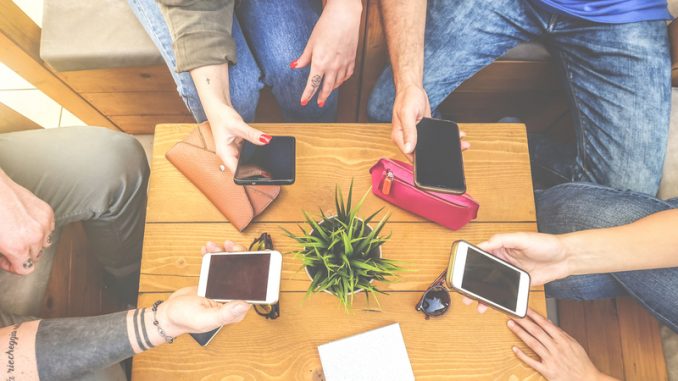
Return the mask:
[[(577, 130), (572, 181), (655, 195), (669, 128), (666, 23), (600, 24), (550, 14), (528, 0), (429, 0), (424, 88), (434, 114), (462, 82), (516, 45), (540, 39), (563, 69)], [(369, 116), (389, 121), (392, 70)]]

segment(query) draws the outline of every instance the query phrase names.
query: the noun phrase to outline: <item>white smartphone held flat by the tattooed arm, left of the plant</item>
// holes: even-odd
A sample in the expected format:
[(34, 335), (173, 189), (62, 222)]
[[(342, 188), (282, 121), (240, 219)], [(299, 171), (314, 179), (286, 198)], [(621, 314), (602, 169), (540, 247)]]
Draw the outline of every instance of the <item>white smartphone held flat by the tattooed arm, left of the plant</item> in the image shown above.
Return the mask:
[(198, 295), (218, 302), (274, 304), (280, 295), (278, 251), (210, 253), (202, 257)]

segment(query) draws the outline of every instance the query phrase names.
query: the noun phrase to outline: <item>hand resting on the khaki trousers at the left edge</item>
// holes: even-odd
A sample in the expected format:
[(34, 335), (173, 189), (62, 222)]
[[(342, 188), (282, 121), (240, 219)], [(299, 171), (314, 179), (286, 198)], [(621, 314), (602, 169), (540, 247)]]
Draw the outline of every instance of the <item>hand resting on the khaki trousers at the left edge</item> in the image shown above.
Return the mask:
[(52, 244), (52, 207), (0, 171), (0, 215), (0, 269), (30, 274), (35, 266), (24, 263), (37, 262)]

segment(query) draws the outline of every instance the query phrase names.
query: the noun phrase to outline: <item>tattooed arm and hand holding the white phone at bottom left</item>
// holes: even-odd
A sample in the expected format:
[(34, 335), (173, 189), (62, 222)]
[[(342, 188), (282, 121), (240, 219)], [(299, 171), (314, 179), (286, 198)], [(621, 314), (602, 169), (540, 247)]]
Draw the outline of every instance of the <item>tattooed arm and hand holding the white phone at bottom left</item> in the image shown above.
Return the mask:
[[(209, 251), (244, 251), (233, 242), (208, 243)], [(0, 311), (0, 338), (9, 343), (0, 354), (9, 380), (120, 379), (111, 367), (137, 353), (172, 343), (185, 333), (209, 332), (242, 321), (250, 305), (217, 303), (182, 288), (151, 308), (103, 316), (33, 319)]]

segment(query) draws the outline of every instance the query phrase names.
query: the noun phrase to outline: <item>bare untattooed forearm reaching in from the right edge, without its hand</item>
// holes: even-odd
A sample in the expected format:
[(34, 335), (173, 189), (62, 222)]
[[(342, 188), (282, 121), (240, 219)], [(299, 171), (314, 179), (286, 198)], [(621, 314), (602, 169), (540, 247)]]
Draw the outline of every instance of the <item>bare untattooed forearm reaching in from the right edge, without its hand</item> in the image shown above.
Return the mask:
[(628, 225), (562, 236), (573, 274), (678, 266), (678, 210), (652, 214)]

